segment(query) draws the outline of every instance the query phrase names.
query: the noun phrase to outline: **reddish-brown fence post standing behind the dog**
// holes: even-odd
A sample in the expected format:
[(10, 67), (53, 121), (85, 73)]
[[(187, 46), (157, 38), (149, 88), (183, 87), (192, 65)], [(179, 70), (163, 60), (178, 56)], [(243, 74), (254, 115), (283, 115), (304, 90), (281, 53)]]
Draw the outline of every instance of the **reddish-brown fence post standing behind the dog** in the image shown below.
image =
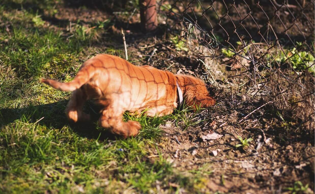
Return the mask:
[(141, 27), (144, 31), (152, 31), (157, 27), (156, 0), (140, 0)]

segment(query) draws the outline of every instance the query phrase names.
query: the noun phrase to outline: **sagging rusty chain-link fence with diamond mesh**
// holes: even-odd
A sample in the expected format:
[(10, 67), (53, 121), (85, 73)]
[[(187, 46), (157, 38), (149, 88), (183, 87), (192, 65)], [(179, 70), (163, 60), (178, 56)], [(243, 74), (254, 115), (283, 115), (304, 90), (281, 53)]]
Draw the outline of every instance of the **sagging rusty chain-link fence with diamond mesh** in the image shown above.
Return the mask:
[(201, 57), (236, 70), (229, 78), (246, 76), (257, 92), (275, 96), (288, 91), (270, 88), (282, 77), (313, 95), (301, 75), (315, 70), (314, 0), (162, 0), (157, 9)]

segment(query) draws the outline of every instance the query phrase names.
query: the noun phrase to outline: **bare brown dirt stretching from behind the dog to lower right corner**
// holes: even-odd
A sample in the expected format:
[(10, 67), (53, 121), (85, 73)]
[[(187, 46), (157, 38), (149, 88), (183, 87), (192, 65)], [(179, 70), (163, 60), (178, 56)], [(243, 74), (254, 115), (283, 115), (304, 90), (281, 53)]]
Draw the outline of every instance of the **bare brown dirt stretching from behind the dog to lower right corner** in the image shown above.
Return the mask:
[[(114, 18), (113, 27), (108, 32), (111, 35), (101, 34), (91, 44), (97, 45), (97, 48), (89, 48), (88, 54), (95, 53), (95, 50), (104, 51), (109, 46), (123, 48), (119, 33), (115, 33), (115, 30), (119, 31), (123, 27), (131, 55), (129, 60), (135, 61), (135, 65), (151, 65), (173, 73), (192, 74), (207, 81), (217, 104), (197, 114), (195, 120), (201, 122), (186, 130), (176, 127), (174, 123), (161, 126), (165, 133), (158, 145), (163, 157), (169, 158), (173, 167), (180, 172), (197, 170), (210, 164), (208, 171), (212, 172), (204, 182), (204, 192), (282, 193), (285, 187), (292, 187), (297, 180), (303, 185), (309, 184), (307, 192), (314, 192), (313, 129), (294, 128), (294, 124), (286, 128), (285, 122), (276, 112), (285, 113), (290, 110), (280, 110), (276, 102), (256, 110), (272, 99), (254, 98), (248, 94), (251, 87), (249, 84), (237, 93), (238, 78), (227, 80), (226, 76), (235, 72), (228, 71), (224, 66), (214, 67), (212, 79), (198, 60), (198, 52), (175, 50), (174, 44), (165, 36), (163, 25), (153, 33), (143, 34), (137, 29), (137, 24), (126, 28), (128, 23), (139, 22), (137, 14), (132, 17), (133, 22), (130, 22), (127, 21), (128, 17), (112, 16), (104, 10), (62, 5), (57, 9), (58, 14), (54, 19), (47, 18), (45, 21), (66, 33), (70, 21), (76, 23), (80, 20), (89, 25), (97, 20)], [(154, 49), (157, 50), (153, 52)], [(209, 80), (214, 80), (216, 84), (210, 84)], [(231, 83), (235, 83), (234, 87)], [(253, 114), (245, 118), (254, 110)], [(298, 118), (292, 122), (299, 123), (297, 120)], [(212, 133), (221, 134), (222, 137), (216, 140), (201, 138)], [(236, 148), (235, 145), (240, 143), (238, 136), (253, 138), (253, 141), (244, 149)], [(152, 154), (157, 154), (157, 151), (152, 150)], [(148, 159), (154, 161), (154, 157)]]

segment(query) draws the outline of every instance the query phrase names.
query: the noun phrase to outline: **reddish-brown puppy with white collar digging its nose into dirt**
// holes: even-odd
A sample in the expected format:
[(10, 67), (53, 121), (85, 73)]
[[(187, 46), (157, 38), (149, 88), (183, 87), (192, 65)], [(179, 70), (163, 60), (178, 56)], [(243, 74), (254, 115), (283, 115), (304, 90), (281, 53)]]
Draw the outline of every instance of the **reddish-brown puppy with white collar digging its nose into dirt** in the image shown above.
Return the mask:
[(108, 54), (98, 54), (85, 61), (71, 82), (50, 79), (41, 82), (61, 91), (73, 91), (66, 115), (74, 122), (89, 119), (83, 112), (83, 104), (86, 100), (96, 99), (104, 107), (100, 126), (124, 138), (137, 135), (141, 128), (139, 122), (123, 122), (125, 111), (138, 114), (146, 110), (151, 117), (171, 114), (178, 106), (179, 92), (189, 106), (215, 104), (204, 82), (196, 77), (174, 75), (151, 66), (134, 66)]

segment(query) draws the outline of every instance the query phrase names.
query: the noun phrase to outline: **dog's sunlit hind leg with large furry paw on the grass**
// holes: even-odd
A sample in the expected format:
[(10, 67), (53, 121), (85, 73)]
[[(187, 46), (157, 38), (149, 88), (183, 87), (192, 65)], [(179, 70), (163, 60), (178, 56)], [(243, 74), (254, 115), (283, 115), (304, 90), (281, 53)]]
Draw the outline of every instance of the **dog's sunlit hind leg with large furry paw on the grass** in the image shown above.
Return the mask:
[(117, 108), (113, 109), (108, 107), (102, 112), (99, 125), (109, 129), (112, 134), (123, 136), (123, 138), (130, 136), (135, 137), (139, 133), (141, 125), (137, 121), (123, 122), (123, 112), (124, 111), (117, 111)]

